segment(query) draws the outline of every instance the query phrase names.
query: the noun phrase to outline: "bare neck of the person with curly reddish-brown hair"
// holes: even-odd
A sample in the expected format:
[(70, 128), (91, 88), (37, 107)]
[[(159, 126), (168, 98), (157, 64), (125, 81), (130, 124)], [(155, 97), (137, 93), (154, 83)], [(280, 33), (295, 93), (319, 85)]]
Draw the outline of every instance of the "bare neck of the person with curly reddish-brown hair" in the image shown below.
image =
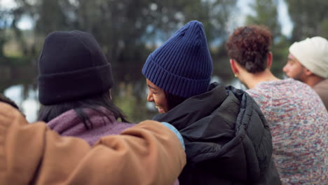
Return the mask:
[(257, 84), (264, 81), (280, 80), (279, 78), (275, 77), (269, 69), (256, 74), (248, 73), (245, 71), (240, 77), (242, 77), (240, 80), (247, 86), (247, 88), (254, 88), (257, 86)]

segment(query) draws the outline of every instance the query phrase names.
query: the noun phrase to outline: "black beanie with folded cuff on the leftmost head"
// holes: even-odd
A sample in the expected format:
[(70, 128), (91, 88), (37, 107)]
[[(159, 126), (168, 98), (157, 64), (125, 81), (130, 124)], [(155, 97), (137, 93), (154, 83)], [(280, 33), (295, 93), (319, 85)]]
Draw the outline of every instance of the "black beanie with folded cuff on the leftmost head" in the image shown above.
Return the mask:
[(86, 32), (49, 34), (39, 57), (39, 101), (58, 104), (101, 95), (114, 84), (111, 64)]

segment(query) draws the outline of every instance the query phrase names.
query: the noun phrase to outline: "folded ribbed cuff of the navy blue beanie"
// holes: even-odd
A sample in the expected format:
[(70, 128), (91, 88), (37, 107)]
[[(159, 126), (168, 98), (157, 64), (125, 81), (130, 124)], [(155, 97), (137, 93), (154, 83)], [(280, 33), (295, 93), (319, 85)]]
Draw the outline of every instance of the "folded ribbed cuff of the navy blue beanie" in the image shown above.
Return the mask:
[(192, 97), (205, 93), (210, 84), (210, 78), (191, 79), (170, 73), (154, 62), (152, 54), (146, 60), (142, 74), (158, 88), (180, 97)]

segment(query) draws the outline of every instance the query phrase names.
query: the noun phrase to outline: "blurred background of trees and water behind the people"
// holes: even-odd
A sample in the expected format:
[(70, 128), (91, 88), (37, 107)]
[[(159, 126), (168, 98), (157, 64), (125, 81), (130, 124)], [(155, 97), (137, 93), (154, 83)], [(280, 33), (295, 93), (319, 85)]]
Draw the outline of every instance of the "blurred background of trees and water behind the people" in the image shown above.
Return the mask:
[[(327, 0), (1, 0), (0, 91), (23, 84), (22, 99), (36, 91), (37, 60), (43, 39), (55, 30), (90, 32), (111, 62), (116, 85), (114, 101), (131, 121), (156, 114), (146, 104), (146, 57), (190, 20), (203, 22), (214, 62), (215, 79), (235, 82), (224, 43), (233, 28), (266, 25), (273, 33), (273, 73), (282, 77), (288, 47), (307, 36), (328, 36)], [(249, 6), (238, 6), (244, 3)], [(278, 7), (287, 5), (292, 20), (290, 35), (282, 34)], [(249, 13), (240, 12), (250, 9)], [(241, 20), (241, 18), (245, 18)], [(21, 29), (27, 21), (31, 29)], [(36, 93), (34, 93), (36, 94)], [(33, 95), (36, 99), (37, 95)], [(19, 103), (18, 103), (19, 104)], [(29, 107), (27, 107), (29, 109)], [(24, 109), (23, 109), (24, 110)]]

